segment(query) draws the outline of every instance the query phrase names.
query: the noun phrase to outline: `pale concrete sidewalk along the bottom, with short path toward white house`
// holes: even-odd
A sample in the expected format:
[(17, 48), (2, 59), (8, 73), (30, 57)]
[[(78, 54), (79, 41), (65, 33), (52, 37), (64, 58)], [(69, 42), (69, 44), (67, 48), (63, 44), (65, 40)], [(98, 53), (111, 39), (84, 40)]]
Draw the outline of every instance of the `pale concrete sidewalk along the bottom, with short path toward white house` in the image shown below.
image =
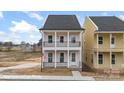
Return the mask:
[(41, 75), (0, 75), (0, 80), (29, 81), (94, 81), (93, 77), (81, 76), (79, 71), (72, 71), (73, 76), (41, 76)]

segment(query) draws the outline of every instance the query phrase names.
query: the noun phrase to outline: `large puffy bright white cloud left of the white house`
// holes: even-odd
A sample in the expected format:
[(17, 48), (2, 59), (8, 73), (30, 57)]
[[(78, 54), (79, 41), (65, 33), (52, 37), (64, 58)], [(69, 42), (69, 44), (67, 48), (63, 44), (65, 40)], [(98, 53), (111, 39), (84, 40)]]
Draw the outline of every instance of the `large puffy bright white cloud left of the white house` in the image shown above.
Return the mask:
[(35, 25), (29, 24), (25, 20), (21, 20), (20, 22), (12, 21), (11, 23), (12, 23), (12, 27), (10, 27), (9, 30), (14, 33), (38, 31)]

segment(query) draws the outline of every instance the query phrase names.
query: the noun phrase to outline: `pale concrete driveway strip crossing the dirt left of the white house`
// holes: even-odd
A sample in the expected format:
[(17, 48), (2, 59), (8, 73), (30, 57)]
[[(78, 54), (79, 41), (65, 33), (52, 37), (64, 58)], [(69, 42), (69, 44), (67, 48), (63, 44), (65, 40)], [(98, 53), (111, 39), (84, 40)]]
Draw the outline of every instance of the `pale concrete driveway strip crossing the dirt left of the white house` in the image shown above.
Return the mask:
[(11, 69), (31, 68), (31, 67), (35, 67), (39, 65), (40, 63), (24, 63), (24, 64), (11, 66), (11, 67), (0, 67), (0, 72), (5, 71), (5, 70), (11, 70)]

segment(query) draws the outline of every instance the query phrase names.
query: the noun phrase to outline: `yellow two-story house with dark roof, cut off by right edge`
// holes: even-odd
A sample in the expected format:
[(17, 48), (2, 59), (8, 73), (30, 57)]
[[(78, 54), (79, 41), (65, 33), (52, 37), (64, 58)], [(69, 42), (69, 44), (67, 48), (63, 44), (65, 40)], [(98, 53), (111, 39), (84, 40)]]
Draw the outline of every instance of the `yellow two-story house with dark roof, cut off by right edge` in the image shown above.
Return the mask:
[(124, 21), (115, 16), (89, 16), (84, 29), (83, 62), (93, 69), (123, 69)]

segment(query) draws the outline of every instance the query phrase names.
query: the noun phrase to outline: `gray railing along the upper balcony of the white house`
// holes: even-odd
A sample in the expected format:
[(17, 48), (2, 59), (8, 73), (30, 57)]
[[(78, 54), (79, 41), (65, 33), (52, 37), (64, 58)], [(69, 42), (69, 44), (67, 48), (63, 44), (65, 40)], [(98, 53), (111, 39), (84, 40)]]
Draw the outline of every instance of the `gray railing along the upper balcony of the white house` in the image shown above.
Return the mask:
[[(48, 42), (45, 41), (43, 42), (43, 46), (44, 47), (55, 47), (55, 42)], [(80, 47), (81, 46), (81, 42), (80, 41), (76, 41), (76, 42), (69, 42), (69, 47)], [(56, 42), (56, 47), (68, 47), (68, 42), (64, 41), (64, 42)]]

